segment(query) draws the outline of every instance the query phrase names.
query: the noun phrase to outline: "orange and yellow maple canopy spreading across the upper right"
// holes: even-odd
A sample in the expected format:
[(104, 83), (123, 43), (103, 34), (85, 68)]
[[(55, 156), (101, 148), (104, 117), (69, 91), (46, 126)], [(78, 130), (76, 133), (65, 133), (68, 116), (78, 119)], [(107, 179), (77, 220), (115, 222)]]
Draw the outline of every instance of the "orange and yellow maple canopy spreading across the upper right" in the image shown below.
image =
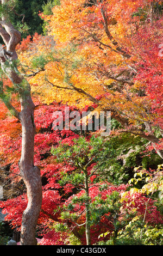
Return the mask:
[(147, 139), (162, 158), (161, 11), (152, 0), (61, 1), (42, 15), (58, 52), (37, 78), (42, 86), (46, 77), (49, 97), (64, 92), (62, 100), (110, 110), (120, 132)]

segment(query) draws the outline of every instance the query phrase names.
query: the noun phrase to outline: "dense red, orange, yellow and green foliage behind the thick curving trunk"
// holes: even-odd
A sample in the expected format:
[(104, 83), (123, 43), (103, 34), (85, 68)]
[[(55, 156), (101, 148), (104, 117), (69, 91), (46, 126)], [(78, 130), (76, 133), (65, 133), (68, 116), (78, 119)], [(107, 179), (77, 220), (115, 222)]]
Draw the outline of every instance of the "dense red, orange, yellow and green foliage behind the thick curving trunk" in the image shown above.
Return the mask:
[[(18, 3), (32, 28), (16, 65), (35, 103), (40, 244), (163, 245), (162, 2)], [(3, 101), (19, 109), (11, 81), (3, 83)], [(65, 123), (65, 107), (111, 111), (110, 135), (55, 130), (54, 113)], [(21, 124), (11, 114), (1, 102), (0, 207), (20, 230), (27, 194), (18, 168)]]

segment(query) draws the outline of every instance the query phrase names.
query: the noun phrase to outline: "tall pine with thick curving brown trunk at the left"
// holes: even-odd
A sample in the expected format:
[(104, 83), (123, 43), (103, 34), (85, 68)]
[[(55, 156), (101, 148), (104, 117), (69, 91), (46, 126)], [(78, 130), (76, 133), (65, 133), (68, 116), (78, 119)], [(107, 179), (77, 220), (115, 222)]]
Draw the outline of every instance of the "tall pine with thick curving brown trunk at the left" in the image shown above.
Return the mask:
[[(35, 229), (42, 203), (40, 170), (34, 166), (35, 105), (30, 94), (29, 83), (17, 70), (16, 46), (21, 41), (21, 33), (10, 22), (11, 11), (12, 1), (2, 0), (0, 34), (4, 46), (1, 47), (1, 69), (3, 70), (1, 100), (22, 125), (22, 151), (18, 166), (27, 186), (28, 205), (22, 217), (21, 245), (35, 245)], [(12, 82), (10, 88), (12, 94), (17, 94), (20, 99), (20, 111), (12, 105), (12, 94), (9, 95), (7, 87), (3, 84), (4, 76), (7, 76)]]

